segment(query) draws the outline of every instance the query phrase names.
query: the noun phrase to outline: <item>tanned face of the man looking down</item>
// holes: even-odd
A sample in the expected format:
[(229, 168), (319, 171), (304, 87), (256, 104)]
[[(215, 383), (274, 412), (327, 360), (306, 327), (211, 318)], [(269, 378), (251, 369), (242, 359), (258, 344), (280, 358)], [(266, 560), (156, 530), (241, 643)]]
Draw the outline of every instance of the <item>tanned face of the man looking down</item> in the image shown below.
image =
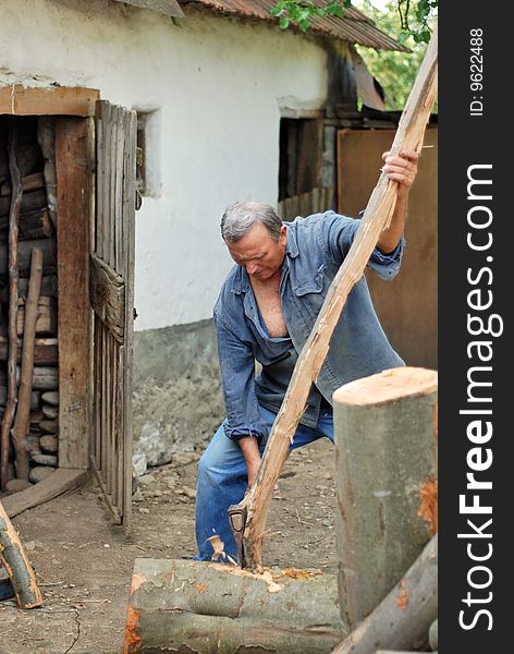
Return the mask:
[(276, 243), (268, 230), (260, 222), (238, 241), (225, 241), (230, 255), (238, 266), (244, 266), (246, 272), (254, 279), (266, 281), (278, 272), (282, 266), (287, 241), (287, 229), (282, 226), (279, 242)]

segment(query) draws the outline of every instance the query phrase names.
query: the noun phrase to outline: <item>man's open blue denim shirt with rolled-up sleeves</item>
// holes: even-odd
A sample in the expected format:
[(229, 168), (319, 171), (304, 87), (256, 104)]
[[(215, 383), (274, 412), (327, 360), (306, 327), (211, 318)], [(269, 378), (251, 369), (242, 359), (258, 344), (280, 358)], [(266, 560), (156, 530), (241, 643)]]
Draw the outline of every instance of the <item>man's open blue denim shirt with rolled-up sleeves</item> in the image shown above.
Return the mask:
[[(302, 351), (330, 283), (353, 243), (359, 219), (327, 211), (284, 225), (287, 243), (280, 294), (291, 341), (270, 338), (260, 318), (248, 275), (242, 266), (232, 268), (215, 305), (227, 410), (223, 426), (232, 439), (266, 434), (256, 391), (255, 360), (262, 364), (264, 371), (273, 370), (290, 343), (296, 353)], [(400, 269), (403, 249), (402, 237), (389, 255), (375, 250), (368, 267), (382, 279), (393, 278)], [(302, 424), (316, 426), (321, 396), (332, 403), (333, 391), (343, 384), (400, 365), (404, 362), (383, 332), (363, 275), (348, 294), (335, 326)], [(280, 395), (280, 389), (278, 392)]]

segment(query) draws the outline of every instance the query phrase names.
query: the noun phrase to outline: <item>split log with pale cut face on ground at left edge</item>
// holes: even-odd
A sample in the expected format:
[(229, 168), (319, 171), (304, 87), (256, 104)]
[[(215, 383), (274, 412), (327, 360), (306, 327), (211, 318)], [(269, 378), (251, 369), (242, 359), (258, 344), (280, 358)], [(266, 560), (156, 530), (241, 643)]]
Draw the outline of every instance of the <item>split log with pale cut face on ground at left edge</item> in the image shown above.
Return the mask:
[(36, 583), (34, 569), (2, 502), (0, 502), (0, 559), (11, 579), (20, 608), (41, 606), (42, 595)]

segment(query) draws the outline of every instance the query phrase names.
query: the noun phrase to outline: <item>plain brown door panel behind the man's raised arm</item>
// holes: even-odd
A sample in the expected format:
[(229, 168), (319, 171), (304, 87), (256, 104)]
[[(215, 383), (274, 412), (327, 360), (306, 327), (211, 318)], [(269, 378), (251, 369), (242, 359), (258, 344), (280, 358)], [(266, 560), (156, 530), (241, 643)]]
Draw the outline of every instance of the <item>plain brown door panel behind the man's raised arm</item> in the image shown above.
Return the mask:
[[(338, 210), (366, 208), (391, 147), (394, 130), (341, 130), (338, 134)], [(407, 365), (438, 366), (438, 130), (425, 132), (419, 172), (408, 198), (406, 247), (390, 281), (366, 274), (375, 308), (393, 348)]]

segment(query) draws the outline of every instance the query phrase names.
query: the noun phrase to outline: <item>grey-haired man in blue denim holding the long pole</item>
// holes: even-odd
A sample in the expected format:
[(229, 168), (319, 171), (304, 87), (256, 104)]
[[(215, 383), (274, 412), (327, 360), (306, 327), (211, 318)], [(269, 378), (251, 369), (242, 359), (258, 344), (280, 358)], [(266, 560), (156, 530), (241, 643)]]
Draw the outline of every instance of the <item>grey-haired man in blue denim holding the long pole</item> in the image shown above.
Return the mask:
[[(368, 266), (388, 279), (400, 268), (408, 192), (417, 154), (384, 153), (383, 171), (399, 184), (397, 201)], [(218, 535), (236, 558), (228, 508), (243, 498), (280, 410), (294, 365), (328, 288), (352, 245), (358, 220), (333, 211), (282, 223), (256, 202), (231, 205), (221, 233), (235, 266), (215, 306), (227, 420), (198, 465), (196, 538), (199, 560), (210, 560)], [(255, 377), (255, 360), (261, 373)], [(391, 348), (363, 278), (348, 295), (313, 384), (292, 449), (327, 436), (333, 443), (332, 392), (353, 379), (404, 365)]]

